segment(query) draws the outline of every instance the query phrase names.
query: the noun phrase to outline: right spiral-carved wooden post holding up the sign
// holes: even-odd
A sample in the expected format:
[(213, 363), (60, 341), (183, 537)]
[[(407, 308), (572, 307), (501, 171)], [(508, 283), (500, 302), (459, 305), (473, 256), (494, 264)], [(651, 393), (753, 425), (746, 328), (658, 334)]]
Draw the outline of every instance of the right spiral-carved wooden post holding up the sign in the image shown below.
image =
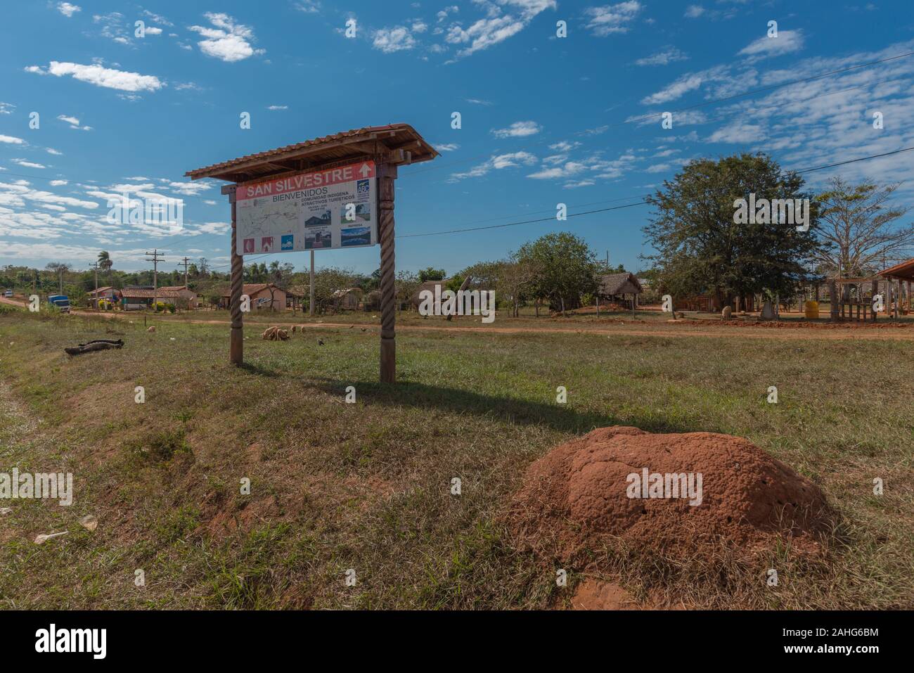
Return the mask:
[(377, 236), (381, 241), (381, 383), (397, 379), (395, 323), (397, 300), (394, 289), (394, 180), (397, 166), (381, 164), (377, 178)]

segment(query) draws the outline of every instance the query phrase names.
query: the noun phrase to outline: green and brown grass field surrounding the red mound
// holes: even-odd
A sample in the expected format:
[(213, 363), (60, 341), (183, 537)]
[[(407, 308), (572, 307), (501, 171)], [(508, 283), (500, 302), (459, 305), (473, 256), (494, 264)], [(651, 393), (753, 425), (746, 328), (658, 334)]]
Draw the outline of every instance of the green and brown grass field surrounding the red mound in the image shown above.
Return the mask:
[[(391, 388), (372, 329), (265, 342), (252, 325), (238, 369), (225, 324), (130, 319), (0, 313), (0, 472), (72, 472), (76, 492), (0, 502), (4, 607), (555, 608), (595, 576), (668, 606), (914, 607), (907, 341), (414, 329)], [(117, 333), (122, 350), (63, 353)], [(505, 505), (526, 466), (612, 424), (748, 437), (840, 513), (827, 556), (707, 567), (607, 548), (569, 567), (516, 549)]]

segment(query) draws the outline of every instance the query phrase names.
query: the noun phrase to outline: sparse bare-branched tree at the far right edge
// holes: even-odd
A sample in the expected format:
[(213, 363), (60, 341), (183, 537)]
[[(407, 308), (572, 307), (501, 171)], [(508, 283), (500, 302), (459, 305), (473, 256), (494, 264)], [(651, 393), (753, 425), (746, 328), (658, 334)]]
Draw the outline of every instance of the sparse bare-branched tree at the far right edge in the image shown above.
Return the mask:
[(824, 272), (835, 278), (869, 275), (887, 261), (909, 255), (914, 224), (893, 226), (909, 211), (890, 203), (898, 184), (851, 186), (840, 177), (829, 184), (817, 199), (822, 248), (816, 261)]

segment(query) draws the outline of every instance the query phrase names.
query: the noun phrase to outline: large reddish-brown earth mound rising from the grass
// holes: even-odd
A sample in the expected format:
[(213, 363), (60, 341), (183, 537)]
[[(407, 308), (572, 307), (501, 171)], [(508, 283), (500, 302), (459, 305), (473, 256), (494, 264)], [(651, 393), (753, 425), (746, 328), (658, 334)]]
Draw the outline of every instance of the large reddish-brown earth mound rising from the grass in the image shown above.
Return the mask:
[[(641, 477), (645, 467), (649, 474), (701, 474), (701, 503), (629, 497), (643, 495), (629, 475)], [(829, 515), (818, 487), (748, 440), (623, 426), (595, 430), (530, 465), (510, 510), (522, 544), (566, 559), (612, 539), (672, 557), (710, 558), (721, 542), (752, 555), (779, 536), (815, 551)]]

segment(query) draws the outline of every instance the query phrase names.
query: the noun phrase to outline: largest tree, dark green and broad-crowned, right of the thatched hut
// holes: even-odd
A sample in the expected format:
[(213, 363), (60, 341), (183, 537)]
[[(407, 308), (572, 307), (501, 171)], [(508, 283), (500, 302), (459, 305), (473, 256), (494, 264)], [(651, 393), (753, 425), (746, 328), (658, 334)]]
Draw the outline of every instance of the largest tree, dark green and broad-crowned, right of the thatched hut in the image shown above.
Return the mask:
[[(817, 250), (817, 209), (801, 176), (782, 173), (768, 155), (701, 159), (646, 198), (655, 208), (643, 231), (657, 251), (664, 291), (712, 293), (721, 304), (755, 293), (793, 294)], [(734, 202), (810, 198), (809, 230), (777, 221), (737, 223)]]

